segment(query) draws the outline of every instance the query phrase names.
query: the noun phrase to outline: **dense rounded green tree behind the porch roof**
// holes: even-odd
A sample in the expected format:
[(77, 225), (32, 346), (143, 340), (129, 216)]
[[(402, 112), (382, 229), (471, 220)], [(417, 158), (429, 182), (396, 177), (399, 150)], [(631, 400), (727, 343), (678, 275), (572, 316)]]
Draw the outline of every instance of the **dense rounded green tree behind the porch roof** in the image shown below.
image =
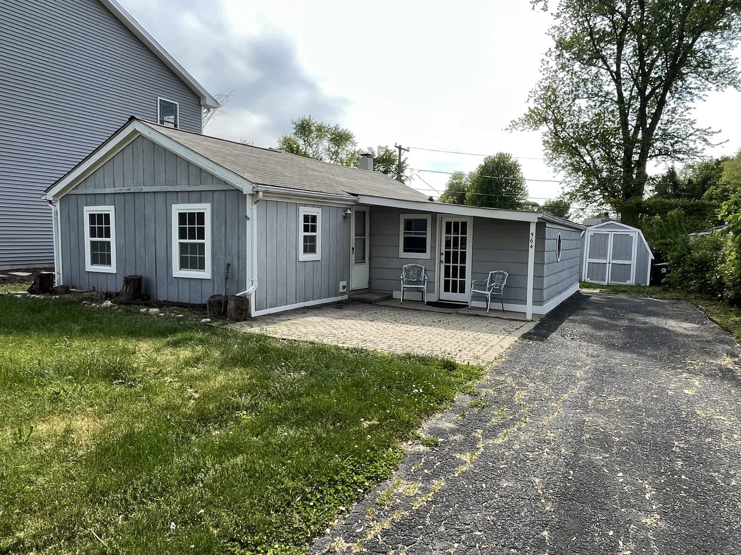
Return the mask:
[(469, 206), (519, 210), (525, 208), (528, 187), (522, 167), (507, 152), (484, 158), (469, 176), (465, 203)]

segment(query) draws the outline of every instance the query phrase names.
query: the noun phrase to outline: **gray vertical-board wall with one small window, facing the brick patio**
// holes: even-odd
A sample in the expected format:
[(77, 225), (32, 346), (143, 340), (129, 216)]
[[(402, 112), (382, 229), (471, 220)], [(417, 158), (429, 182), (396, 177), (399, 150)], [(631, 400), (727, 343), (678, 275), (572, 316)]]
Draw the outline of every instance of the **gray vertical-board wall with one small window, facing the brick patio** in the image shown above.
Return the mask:
[[(299, 261), (299, 207), (322, 209), (322, 258)], [(350, 218), (342, 206), (260, 201), (257, 203), (255, 310), (339, 297), (350, 282)]]

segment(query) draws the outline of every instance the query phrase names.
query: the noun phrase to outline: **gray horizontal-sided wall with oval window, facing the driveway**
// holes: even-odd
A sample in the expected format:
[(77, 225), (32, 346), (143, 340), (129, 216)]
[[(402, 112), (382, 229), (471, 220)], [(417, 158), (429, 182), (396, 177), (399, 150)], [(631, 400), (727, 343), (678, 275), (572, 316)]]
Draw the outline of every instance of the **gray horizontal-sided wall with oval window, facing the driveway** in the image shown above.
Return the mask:
[[(581, 232), (554, 223), (538, 223), (545, 240), (542, 241), (542, 289), (539, 300), (534, 304), (542, 306), (562, 292), (579, 283), (582, 259)], [(556, 243), (561, 234), (561, 260), (556, 259)], [(537, 253), (536, 253), (537, 256)], [(536, 288), (536, 292), (538, 288)]]

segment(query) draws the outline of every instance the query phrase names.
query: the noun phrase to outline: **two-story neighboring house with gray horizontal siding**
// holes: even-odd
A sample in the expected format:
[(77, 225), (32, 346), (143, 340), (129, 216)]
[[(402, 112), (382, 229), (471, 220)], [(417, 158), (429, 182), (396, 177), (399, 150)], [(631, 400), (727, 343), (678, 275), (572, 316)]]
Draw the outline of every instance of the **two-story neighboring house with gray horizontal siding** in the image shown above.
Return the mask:
[(3, 0), (1, 12), (0, 269), (46, 266), (47, 186), (130, 115), (202, 132), (218, 103), (115, 0)]

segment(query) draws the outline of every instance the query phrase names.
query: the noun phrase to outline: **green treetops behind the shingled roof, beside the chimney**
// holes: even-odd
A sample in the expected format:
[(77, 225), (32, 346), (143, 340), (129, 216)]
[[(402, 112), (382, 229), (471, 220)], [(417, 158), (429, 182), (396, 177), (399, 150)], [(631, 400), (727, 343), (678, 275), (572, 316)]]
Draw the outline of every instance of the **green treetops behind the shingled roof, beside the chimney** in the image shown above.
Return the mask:
[[(293, 132), (278, 139), (278, 148), (283, 152), (350, 167), (357, 167), (360, 155), (368, 152), (374, 158), (374, 171), (396, 177), (396, 150), (389, 147), (368, 147), (365, 151), (361, 150), (350, 129), (316, 121), (310, 115), (291, 120), (290, 123), (293, 125)], [(402, 181), (405, 180), (408, 167), (407, 159), (402, 158)]]

